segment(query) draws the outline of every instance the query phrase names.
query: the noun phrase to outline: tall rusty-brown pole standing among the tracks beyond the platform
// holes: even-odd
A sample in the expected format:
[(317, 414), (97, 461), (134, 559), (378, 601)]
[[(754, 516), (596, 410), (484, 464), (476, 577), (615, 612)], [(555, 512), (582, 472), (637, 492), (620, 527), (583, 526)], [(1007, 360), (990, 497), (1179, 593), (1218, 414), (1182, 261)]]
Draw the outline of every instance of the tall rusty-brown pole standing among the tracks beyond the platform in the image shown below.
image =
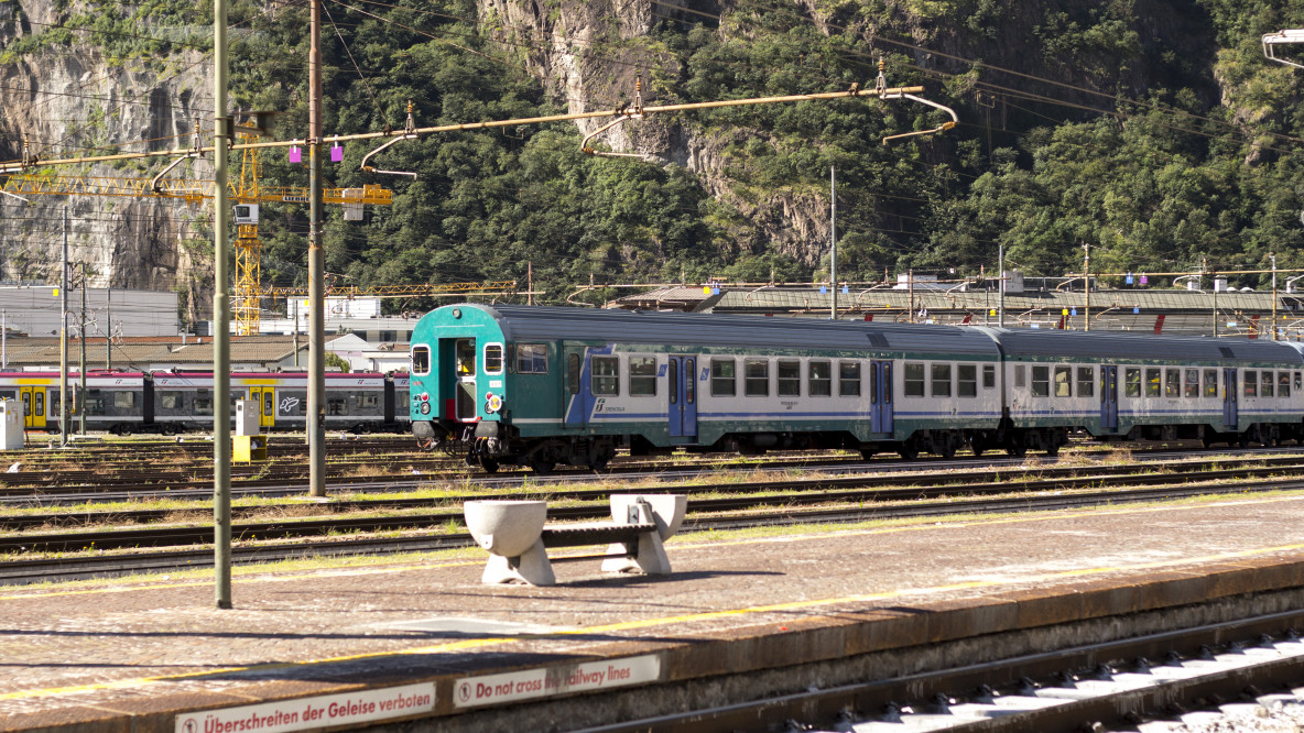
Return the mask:
[(326, 266), (322, 262), (322, 10), (312, 7), (308, 47), (308, 493), (326, 496)]

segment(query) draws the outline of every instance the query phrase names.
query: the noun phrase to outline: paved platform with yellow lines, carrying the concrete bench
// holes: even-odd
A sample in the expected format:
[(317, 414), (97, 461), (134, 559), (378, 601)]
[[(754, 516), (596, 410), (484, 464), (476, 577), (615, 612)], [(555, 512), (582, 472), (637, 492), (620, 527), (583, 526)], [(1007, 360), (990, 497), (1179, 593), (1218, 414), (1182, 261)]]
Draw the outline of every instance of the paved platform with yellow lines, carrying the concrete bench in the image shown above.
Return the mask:
[[(1030, 630), (1258, 596), (1300, 608), (1304, 494), (666, 544), (666, 576), (484, 553), (0, 588), (0, 730), (572, 730), (911, 673)], [(1094, 630), (1093, 630), (1094, 629)], [(983, 651), (983, 644), (992, 647)]]

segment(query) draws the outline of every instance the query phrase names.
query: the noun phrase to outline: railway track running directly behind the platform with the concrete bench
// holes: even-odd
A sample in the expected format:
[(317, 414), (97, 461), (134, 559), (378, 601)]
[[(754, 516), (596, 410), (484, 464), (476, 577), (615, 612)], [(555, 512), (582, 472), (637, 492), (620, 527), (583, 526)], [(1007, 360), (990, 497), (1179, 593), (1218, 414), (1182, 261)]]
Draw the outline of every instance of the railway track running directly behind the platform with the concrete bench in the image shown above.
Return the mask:
[[(1170, 477), (1171, 479), (1171, 477)], [(1076, 481), (1076, 480), (1071, 480)], [(737, 530), (760, 526), (794, 526), (803, 523), (850, 523), (867, 519), (906, 519), (917, 516), (945, 516), (958, 514), (1000, 514), (1016, 511), (1050, 511), (1078, 509), (1101, 505), (1120, 505), (1151, 502), (1172, 498), (1227, 494), (1235, 492), (1301, 489), (1304, 481), (1283, 481), (1267, 479), (1257, 483), (1170, 484), (1144, 489), (1095, 490), (1063, 493), (1065, 484), (1045, 484), (1038, 493), (982, 498), (982, 493), (1008, 493), (1011, 484), (995, 483), (975, 486), (970, 496), (978, 498), (953, 498), (960, 496), (955, 486), (935, 488), (922, 493), (936, 497), (918, 501), (919, 488), (897, 489), (895, 493), (883, 490), (832, 490), (801, 492), (767, 496), (735, 496), (730, 498), (691, 500), (689, 516), (681, 532), (705, 530)], [(669, 490), (669, 489), (668, 489)], [(891, 497), (891, 498), (888, 498)], [(867, 503), (872, 502), (872, 503)], [(822, 509), (792, 509), (794, 506), (814, 506), (841, 503)], [(845, 506), (854, 503), (855, 506)], [(784, 507), (776, 513), (776, 507)], [(556, 507), (549, 511), (553, 519), (597, 519), (606, 516), (605, 505)], [(426, 552), (437, 549), (466, 548), (473, 544), (467, 533), (438, 533), (403, 537), (351, 537), (346, 540), (325, 539), (317, 541), (283, 541), (304, 536), (330, 536), (340, 532), (379, 532), (379, 531), (420, 531), (430, 527), (447, 527), (460, 523), (460, 510), (447, 509), (438, 513), (355, 518), (338, 520), (245, 523), (232, 527), (237, 539), (236, 562), (266, 562), (297, 557), (331, 557), (342, 554), (387, 554), (396, 552)], [(269, 543), (267, 540), (282, 540)], [(261, 544), (254, 544), (261, 540)], [(78, 579), (89, 576), (120, 575), (142, 571), (181, 570), (211, 565), (211, 550), (160, 550), (130, 552), (115, 556), (73, 556), (55, 558), (23, 560), (21, 554), (37, 552), (74, 552), (77, 549), (140, 549), (159, 546), (180, 546), (213, 543), (211, 526), (170, 527), (145, 530), (116, 530), (107, 532), (65, 532), (59, 535), (14, 535), (0, 537), (0, 552), (10, 553), (14, 560), (0, 562), (0, 584), (27, 584), (52, 579)]]

